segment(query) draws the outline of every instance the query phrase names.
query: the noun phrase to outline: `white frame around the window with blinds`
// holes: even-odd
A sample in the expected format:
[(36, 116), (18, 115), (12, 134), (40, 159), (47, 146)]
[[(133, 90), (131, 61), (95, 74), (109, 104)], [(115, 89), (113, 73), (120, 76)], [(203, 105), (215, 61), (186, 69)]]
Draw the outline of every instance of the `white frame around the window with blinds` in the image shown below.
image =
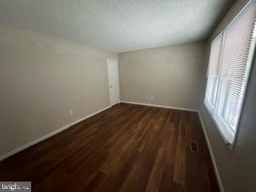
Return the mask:
[[(226, 39), (226, 30), (228, 29), (228, 27), (235, 21), (236, 18), (239, 17), (239, 15), (242, 13), (243, 10), (246, 9), (247, 6), (250, 5), (250, 2), (247, 2), (245, 6), (243, 6), (242, 10), (240, 10), (238, 12), (238, 14), (231, 20), (231, 22), (224, 27), (224, 29), (214, 38), (214, 40), (211, 42), (210, 44), (210, 51), (211, 51), (211, 47), (212, 47), (212, 44), (215, 40), (217, 40), (219, 38), (220, 35), (222, 35), (222, 44), (221, 44), (221, 51), (220, 51), (220, 56), (219, 56), (219, 63), (218, 63), (218, 67), (220, 67), (220, 65), (222, 65), (222, 54), (223, 54), (223, 50), (224, 50), (224, 42), (225, 42), (225, 39)], [(242, 106), (239, 107), (239, 111), (238, 111), (238, 123), (236, 124), (236, 126), (234, 127), (234, 139), (233, 139), (233, 142), (230, 143), (227, 139), (226, 139), (226, 136), (222, 133), (222, 128), (221, 126), (226, 126), (225, 123), (222, 122), (222, 119), (218, 119), (216, 120), (216, 118), (218, 118), (217, 116), (217, 113), (218, 113), (218, 108), (220, 106), (220, 104), (218, 103), (219, 101), (219, 96), (218, 96), (218, 87), (217, 87), (217, 98), (216, 98), (216, 101), (215, 101), (215, 106), (212, 107), (211, 104), (207, 101), (207, 97), (208, 97), (208, 94), (207, 93), (207, 86), (208, 86), (208, 83), (209, 83), (209, 69), (210, 69), (210, 54), (209, 54), (209, 59), (208, 59), (208, 66), (207, 66), (207, 75), (206, 75), (206, 89), (205, 89), (205, 95), (204, 95), (204, 105), (206, 106), (206, 110), (207, 112), (210, 114), (210, 117), (212, 118), (212, 120), (214, 121), (214, 125), (218, 128), (218, 132), (221, 134), (222, 136), (222, 139), (223, 141), (226, 143), (227, 146), (229, 146), (230, 150), (233, 149), (234, 147), (234, 144), (236, 142), (236, 134), (238, 132), (238, 126), (240, 125), (240, 122), (241, 122), (241, 114), (242, 114), (242, 110), (243, 110), (243, 107), (244, 107), (244, 100), (246, 98), (246, 91), (247, 91), (247, 88), (248, 88), (248, 84), (249, 84), (249, 78), (250, 78), (250, 75), (251, 75), (251, 71), (252, 71), (252, 65), (253, 65), (253, 62), (255, 62), (255, 49), (256, 49), (256, 27), (254, 27), (254, 31), (253, 31), (253, 34), (252, 34), (252, 41), (251, 41), (251, 46), (250, 46), (250, 50), (249, 50), (249, 54), (248, 54), (248, 60), (247, 60), (247, 64), (248, 64), (248, 75), (246, 75), (246, 78), (245, 78), (245, 86), (244, 86), (244, 89), (242, 90), (242, 99), (241, 99), (241, 103), (242, 103)], [(255, 59), (254, 59), (255, 58)], [(219, 78), (219, 77), (218, 77)], [(221, 124), (221, 125), (220, 125)], [(228, 129), (228, 128), (226, 128)]]

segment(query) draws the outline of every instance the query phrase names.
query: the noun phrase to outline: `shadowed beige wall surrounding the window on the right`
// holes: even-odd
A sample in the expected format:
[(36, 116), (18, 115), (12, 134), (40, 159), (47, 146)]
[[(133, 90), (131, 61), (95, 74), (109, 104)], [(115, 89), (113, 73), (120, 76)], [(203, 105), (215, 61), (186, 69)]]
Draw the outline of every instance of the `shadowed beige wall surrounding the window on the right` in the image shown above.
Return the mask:
[[(210, 42), (228, 25), (232, 18), (246, 4), (245, 0), (238, 0), (231, 7), (226, 17), (219, 23), (214, 34), (208, 43), (208, 57), (210, 54)], [(205, 65), (204, 87), (206, 87), (206, 68)], [(200, 113), (206, 126), (206, 134), (210, 141), (218, 172), (226, 192), (253, 192), (256, 191), (256, 63), (254, 54), (254, 63), (249, 78), (249, 86), (246, 90), (246, 98), (242, 109), (242, 116), (238, 126), (238, 133), (234, 148), (232, 151), (224, 144), (221, 135), (210, 115), (206, 111), (203, 104), (203, 95), (205, 89), (202, 90)]]

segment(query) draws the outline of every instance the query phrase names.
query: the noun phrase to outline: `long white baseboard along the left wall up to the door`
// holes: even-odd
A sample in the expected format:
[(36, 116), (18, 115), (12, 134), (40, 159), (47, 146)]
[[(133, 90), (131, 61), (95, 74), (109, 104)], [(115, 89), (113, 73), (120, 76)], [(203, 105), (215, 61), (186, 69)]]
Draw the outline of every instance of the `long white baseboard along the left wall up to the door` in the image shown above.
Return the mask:
[(20, 152), (20, 151), (22, 151), (22, 150), (25, 150), (26, 148), (28, 148), (28, 147), (30, 147), (30, 146), (34, 146), (34, 145), (37, 144), (38, 142), (42, 142), (42, 141), (45, 140), (46, 138), (50, 138), (50, 137), (54, 136), (54, 134), (58, 134), (58, 133), (62, 132), (63, 130), (66, 130), (67, 128), (70, 128), (70, 126), (74, 126), (74, 125), (77, 124), (78, 122), (82, 122), (82, 121), (85, 120), (86, 118), (90, 118), (90, 117), (94, 116), (95, 114), (98, 114), (98, 113), (102, 112), (103, 110), (107, 110), (108, 108), (110, 108), (110, 106), (107, 106), (107, 107), (105, 107), (105, 108), (102, 109), (102, 110), (98, 110), (98, 111), (94, 112), (93, 114), (89, 114), (89, 115), (87, 115), (85, 118), (80, 118), (80, 119), (78, 119), (78, 120), (76, 120), (76, 121), (74, 121), (74, 122), (71, 122), (70, 124), (68, 124), (68, 125), (66, 125), (66, 126), (62, 126), (62, 128), (60, 128), (60, 129), (58, 129), (58, 130), (54, 130), (54, 131), (51, 132), (50, 134), (46, 134), (46, 135), (42, 136), (41, 138), (38, 138), (38, 139), (36, 139), (36, 140), (34, 140), (34, 141), (32, 141), (32, 142), (28, 142), (28, 143), (26, 143), (26, 145), (20, 146), (20, 147), (18, 147), (18, 148), (15, 149), (15, 150), (11, 150), (11, 151), (8, 152), (7, 154), (2, 154), (2, 155), (0, 156), (0, 161), (2, 161), (2, 160), (5, 159), (5, 158), (10, 157), (10, 156), (13, 155), (13, 154), (17, 154), (18, 152)]

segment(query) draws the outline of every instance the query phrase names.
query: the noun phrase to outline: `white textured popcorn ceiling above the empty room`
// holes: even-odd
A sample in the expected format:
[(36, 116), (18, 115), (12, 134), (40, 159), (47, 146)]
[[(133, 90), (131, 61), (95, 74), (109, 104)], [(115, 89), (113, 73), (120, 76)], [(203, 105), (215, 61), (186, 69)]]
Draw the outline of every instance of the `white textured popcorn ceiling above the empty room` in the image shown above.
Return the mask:
[(123, 52), (208, 38), (230, 0), (0, 0), (0, 23)]

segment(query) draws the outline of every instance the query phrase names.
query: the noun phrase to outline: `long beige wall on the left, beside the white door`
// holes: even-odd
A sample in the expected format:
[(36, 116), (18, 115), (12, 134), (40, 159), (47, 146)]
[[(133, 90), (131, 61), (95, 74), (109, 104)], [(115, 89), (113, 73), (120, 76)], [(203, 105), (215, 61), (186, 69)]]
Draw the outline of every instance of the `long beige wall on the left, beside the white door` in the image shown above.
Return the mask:
[(118, 54), (0, 26), (0, 155), (109, 106), (106, 58)]

